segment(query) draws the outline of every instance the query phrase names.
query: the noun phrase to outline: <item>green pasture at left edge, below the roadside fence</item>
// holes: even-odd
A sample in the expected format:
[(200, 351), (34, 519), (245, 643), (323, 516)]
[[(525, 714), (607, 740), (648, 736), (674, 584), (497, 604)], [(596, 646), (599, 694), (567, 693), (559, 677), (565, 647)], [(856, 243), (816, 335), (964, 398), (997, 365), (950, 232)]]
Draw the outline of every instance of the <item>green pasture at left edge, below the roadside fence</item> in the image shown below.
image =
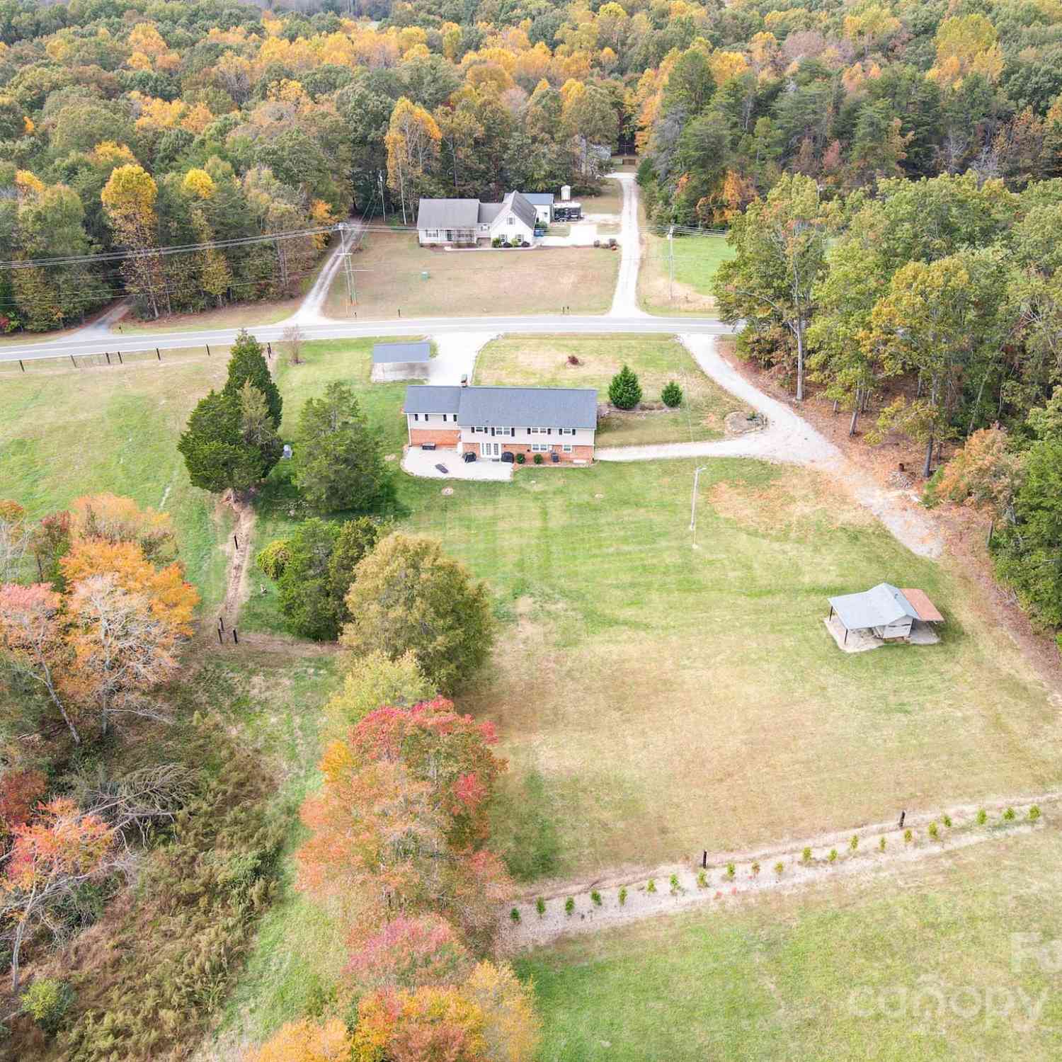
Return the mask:
[[(28, 365), (3, 382), (0, 483), (34, 518), (109, 491), (173, 516), (189, 579), (206, 604), (224, 592), (227, 511), (188, 481), (177, 438), (195, 402), (225, 381), (227, 350), (166, 352), (110, 367)], [(87, 361), (88, 359), (80, 359)], [(102, 356), (99, 358), (103, 361)]]

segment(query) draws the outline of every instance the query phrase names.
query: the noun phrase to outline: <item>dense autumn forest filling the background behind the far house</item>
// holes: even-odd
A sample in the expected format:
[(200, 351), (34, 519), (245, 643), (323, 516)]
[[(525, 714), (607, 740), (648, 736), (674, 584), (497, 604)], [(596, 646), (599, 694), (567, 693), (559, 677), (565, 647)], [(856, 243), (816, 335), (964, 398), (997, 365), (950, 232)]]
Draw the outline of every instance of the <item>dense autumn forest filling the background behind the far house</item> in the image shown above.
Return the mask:
[(593, 185), (594, 148), (637, 147), (684, 226), (785, 173), (1020, 189), (1062, 157), (1054, 0), (299, 6), (0, 2), (0, 326), (277, 297), (352, 209)]

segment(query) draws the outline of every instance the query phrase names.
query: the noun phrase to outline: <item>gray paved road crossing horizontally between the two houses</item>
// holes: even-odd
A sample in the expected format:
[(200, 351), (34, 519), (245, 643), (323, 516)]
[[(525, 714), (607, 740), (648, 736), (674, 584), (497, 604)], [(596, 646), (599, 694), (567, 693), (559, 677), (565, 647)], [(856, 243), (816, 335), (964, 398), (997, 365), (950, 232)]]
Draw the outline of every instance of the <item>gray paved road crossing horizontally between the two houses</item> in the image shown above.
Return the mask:
[[(257, 325), (251, 329), (259, 340), (277, 342), (284, 325)], [(549, 335), (551, 332), (640, 332), (643, 335), (676, 332), (727, 336), (734, 329), (712, 318), (612, 318), (612, 316), (549, 316), (529, 318), (419, 318), (392, 321), (335, 321), (322, 325), (304, 325), (305, 339), (357, 339), (365, 336), (440, 336), (446, 332), (479, 332), (500, 335)], [(104, 335), (90, 339), (50, 340), (0, 346), (0, 361), (32, 361), (37, 358), (63, 358), (67, 355), (102, 354), (104, 350), (123, 354), (132, 350), (172, 350), (176, 347), (202, 346), (216, 343), (225, 346), (236, 339), (236, 328), (211, 328), (202, 331), (140, 332), (133, 336)]]

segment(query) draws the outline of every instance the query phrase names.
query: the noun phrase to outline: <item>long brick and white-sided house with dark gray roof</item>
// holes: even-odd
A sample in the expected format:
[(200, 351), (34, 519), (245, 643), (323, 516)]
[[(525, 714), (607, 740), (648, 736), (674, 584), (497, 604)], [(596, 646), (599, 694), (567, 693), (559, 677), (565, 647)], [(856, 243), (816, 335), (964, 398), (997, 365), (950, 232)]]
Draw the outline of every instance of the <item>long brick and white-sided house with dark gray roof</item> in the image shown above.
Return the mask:
[(410, 446), (425, 444), (478, 460), (541, 453), (553, 463), (594, 460), (594, 388), (470, 388), (410, 384), (402, 408)]

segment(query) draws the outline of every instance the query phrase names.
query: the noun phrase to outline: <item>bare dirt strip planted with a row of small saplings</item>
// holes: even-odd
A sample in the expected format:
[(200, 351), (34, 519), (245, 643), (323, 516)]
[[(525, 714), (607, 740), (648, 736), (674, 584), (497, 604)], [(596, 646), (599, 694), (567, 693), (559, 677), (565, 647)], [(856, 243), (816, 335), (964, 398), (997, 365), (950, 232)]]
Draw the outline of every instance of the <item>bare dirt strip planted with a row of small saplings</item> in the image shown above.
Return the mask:
[[(978, 822), (982, 808), (987, 812), (983, 824)], [(1004, 818), (1008, 808), (1014, 812), (1011, 820)], [(1031, 818), (1030, 808), (1037, 808)], [(499, 947), (515, 953), (539, 947), (560, 937), (600, 932), (691, 908), (715, 907), (725, 912), (737, 901), (765, 892), (793, 892), (842, 877), (867, 879), (902, 874), (911, 864), (957, 849), (1033, 829), (1058, 828), (1060, 812), (1062, 790), (1025, 794), (1014, 800), (993, 799), (979, 805), (960, 805), (946, 812), (910, 813), (904, 829), (893, 821), (854, 832), (825, 834), (795, 844), (790, 842), (749, 852), (709, 852), (702, 884), (698, 881), (699, 864), (676, 863), (597, 880), (554, 885), (539, 894), (525, 893), (499, 910)], [(950, 819), (950, 826), (944, 824), (945, 815)], [(936, 837), (931, 829), (936, 829)], [(909, 840), (905, 837), (907, 830), (911, 835)], [(851, 846), (853, 837), (858, 838), (855, 849)], [(883, 840), (884, 850), (880, 847)], [(810, 849), (807, 859), (804, 857), (806, 849)], [(836, 853), (833, 860), (830, 852)], [(649, 891), (650, 880), (654, 891)], [(623, 903), (619, 898), (620, 889), (627, 890)], [(594, 892), (600, 903), (595, 902)], [(542, 914), (536, 906), (539, 896), (545, 903)], [(569, 897), (575, 904), (570, 914), (566, 910)], [(512, 918), (513, 910), (519, 912), (518, 922)]]

